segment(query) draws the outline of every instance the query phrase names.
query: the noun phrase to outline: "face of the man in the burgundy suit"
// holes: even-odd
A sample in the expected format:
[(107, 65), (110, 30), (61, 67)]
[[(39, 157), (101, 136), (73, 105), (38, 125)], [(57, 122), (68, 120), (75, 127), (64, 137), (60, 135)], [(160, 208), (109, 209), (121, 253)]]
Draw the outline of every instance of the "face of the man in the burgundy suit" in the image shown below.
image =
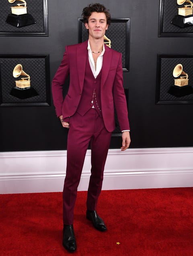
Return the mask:
[(86, 29), (89, 30), (89, 37), (100, 39), (105, 35), (108, 29), (107, 18), (104, 12), (92, 12), (88, 18), (88, 23), (85, 23)]

